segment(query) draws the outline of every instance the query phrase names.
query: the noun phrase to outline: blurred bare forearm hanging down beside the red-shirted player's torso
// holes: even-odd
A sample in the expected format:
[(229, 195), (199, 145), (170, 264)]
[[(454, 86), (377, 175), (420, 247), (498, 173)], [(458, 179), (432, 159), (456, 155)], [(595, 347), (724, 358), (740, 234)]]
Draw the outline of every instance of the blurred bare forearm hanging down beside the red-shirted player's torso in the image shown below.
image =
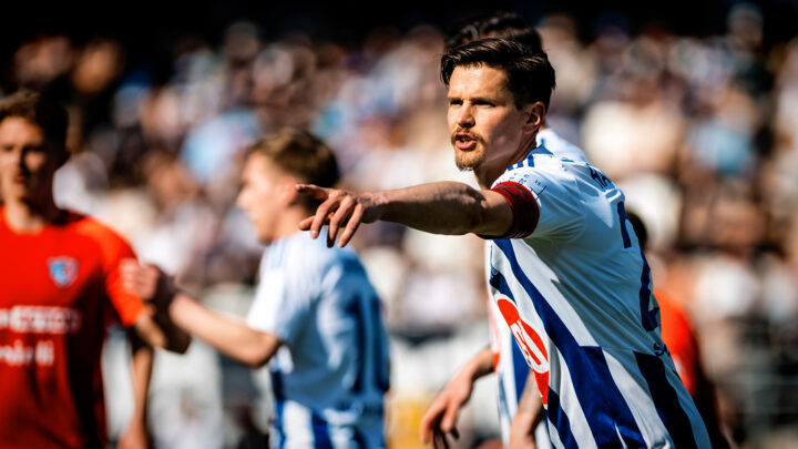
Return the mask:
[(129, 333), (132, 351), (131, 380), (133, 381), (133, 416), (120, 436), (119, 449), (147, 449), (152, 447), (147, 431), (147, 396), (154, 351), (135, 333)]

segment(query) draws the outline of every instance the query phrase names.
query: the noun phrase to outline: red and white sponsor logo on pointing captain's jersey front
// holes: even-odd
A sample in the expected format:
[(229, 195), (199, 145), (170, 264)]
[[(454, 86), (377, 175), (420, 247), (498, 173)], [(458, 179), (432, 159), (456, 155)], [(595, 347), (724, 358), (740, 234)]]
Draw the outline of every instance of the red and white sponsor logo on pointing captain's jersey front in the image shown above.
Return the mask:
[(518, 307), (512, 300), (500, 297), (497, 305), (510, 327), (515, 343), (521, 348), (526, 364), (532, 368), (543, 405), (549, 405), (549, 353), (543, 345), (543, 339), (532, 326), (521, 318)]

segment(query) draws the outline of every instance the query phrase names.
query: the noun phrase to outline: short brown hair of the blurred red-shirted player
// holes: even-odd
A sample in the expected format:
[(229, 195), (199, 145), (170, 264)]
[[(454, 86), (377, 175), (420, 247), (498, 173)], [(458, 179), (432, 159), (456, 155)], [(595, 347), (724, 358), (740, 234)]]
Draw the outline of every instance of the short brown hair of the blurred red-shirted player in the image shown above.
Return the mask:
[(21, 118), (35, 123), (44, 132), (44, 141), (59, 151), (66, 151), (66, 109), (50, 95), (31, 90), (17, 91), (0, 100), (0, 122)]

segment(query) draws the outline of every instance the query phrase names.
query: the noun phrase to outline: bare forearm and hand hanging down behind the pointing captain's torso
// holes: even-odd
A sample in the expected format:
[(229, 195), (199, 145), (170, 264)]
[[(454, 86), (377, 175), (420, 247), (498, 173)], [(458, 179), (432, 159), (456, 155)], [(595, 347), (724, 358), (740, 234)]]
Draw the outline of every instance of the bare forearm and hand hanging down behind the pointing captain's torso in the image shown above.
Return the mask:
[(447, 447), (449, 435), (460, 438), (457, 419), (466, 402), (471, 398), (473, 384), (493, 371), (493, 355), (484, 348), (471, 357), (449, 380), (421, 418), (421, 440), (432, 442), (436, 448)]

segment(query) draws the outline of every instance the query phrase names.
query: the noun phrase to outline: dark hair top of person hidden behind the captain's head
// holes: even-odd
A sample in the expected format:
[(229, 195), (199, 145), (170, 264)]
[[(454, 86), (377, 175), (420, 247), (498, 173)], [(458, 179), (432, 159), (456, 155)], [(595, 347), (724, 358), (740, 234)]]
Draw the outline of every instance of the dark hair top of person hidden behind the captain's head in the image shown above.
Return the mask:
[(528, 45), (533, 52), (542, 52), (543, 43), (538, 30), (521, 16), (509, 11), (495, 11), (472, 19), (452, 32), (446, 41), (447, 51), (485, 38), (511, 38)]

